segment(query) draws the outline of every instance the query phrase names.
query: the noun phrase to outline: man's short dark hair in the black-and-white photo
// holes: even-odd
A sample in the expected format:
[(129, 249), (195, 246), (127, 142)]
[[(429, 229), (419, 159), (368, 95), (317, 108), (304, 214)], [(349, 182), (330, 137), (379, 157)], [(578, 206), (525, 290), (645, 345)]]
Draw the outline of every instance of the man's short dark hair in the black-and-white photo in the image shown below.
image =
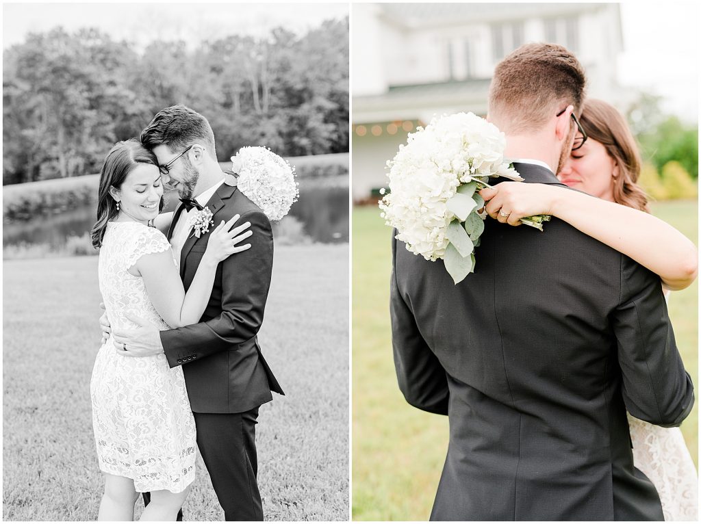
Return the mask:
[(217, 160), (215, 134), (207, 118), (182, 104), (158, 111), (141, 132), (141, 143), (148, 149), (165, 144), (175, 153), (198, 142), (204, 142), (202, 145)]

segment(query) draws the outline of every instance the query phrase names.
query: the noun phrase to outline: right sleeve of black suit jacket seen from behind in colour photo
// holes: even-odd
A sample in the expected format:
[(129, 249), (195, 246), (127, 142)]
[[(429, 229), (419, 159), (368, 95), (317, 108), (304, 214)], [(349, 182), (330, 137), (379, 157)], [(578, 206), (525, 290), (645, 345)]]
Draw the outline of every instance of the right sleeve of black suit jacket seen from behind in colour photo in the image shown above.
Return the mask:
[(694, 391), (676, 348), (660, 279), (622, 256), (620, 290), (612, 324), (626, 408), (652, 424), (678, 426), (693, 407)]

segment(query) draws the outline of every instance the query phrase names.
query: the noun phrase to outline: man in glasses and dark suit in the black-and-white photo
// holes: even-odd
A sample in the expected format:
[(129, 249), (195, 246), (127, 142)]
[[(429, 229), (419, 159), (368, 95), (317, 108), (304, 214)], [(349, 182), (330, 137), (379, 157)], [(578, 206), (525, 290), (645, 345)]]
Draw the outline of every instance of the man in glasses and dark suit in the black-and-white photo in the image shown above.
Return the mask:
[(271, 391), (284, 394), (256, 336), (273, 268), (271, 224), (237, 191), (236, 179), (225, 177), (212, 128), (199, 113), (182, 105), (163, 109), (144, 129), (141, 141), (154, 151), (163, 176), (170, 177), (170, 186), (184, 200), (168, 240), (186, 290), (207, 246), (208, 234), (197, 237), (187, 227), (189, 215), (201, 207), (210, 209), (215, 226), (235, 214), (241, 223), (249, 221), (251, 248), (219, 264), (199, 324), (158, 331), (144, 322), (135, 331), (115, 330), (114, 340), (127, 347), (125, 355), (165, 353), (171, 367), (183, 366), (198, 448), (226, 520), (263, 520), (255, 425), (259, 406), (273, 399)]

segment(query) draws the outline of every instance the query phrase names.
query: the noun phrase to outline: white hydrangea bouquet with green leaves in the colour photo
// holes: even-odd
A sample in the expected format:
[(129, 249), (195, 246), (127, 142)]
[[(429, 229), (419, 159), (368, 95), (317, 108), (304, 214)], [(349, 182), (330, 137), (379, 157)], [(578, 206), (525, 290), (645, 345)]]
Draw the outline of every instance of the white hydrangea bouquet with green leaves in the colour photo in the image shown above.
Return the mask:
[[(454, 282), (475, 270), (475, 247), (484, 231), (484, 200), (478, 191), (489, 177), (523, 181), (503, 151), (506, 139), (494, 124), (474, 113), (434, 117), (418, 127), (388, 160), (390, 193), (381, 216), (397, 228), (397, 240), (426, 260), (442, 258)], [(384, 193), (384, 191), (381, 191)], [(547, 215), (522, 223), (543, 230)]]

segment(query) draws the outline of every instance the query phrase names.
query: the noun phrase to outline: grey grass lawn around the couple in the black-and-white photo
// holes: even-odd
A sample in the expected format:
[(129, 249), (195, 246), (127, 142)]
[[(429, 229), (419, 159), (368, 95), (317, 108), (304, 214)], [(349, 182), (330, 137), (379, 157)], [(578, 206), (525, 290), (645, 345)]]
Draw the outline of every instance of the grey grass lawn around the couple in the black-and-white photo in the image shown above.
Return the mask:
[[(100, 301), (96, 256), (4, 262), (4, 520), (97, 518)], [(266, 520), (348, 520), (348, 244), (275, 249), (259, 340), (287, 393), (257, 426)], [(184, 513), (224, 518), (201, 459)]]

